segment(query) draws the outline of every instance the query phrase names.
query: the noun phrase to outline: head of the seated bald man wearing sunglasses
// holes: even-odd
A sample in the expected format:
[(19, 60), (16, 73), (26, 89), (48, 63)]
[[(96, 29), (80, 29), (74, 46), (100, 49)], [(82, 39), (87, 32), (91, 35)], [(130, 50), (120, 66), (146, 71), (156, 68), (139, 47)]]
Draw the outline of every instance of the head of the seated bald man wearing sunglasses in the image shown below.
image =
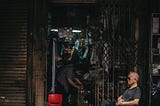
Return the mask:
[(134, 84), (137, 84), (138, 80), (139, 80), (139, 75), (137, 72), (130, 72), (128, 74), (128, 85), (132, 86)]

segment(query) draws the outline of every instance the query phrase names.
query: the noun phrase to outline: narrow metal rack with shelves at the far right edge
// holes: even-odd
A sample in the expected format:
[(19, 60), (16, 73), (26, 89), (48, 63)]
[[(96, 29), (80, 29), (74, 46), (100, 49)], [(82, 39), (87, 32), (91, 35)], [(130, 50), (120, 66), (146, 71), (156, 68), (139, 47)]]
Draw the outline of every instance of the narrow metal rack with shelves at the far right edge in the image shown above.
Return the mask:
[(150, 98), (149, 104), (153, 105), (152, 91), (160, 81), (160, 13), (151, 16), (151, 42), (150, 42)]

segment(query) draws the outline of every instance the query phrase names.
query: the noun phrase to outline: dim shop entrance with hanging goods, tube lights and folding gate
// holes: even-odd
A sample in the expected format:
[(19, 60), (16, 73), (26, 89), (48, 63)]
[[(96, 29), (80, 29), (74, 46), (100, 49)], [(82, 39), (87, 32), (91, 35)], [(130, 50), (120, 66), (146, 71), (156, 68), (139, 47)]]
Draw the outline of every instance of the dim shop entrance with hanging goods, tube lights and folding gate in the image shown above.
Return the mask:
[(72, 61), (83, 83), (79, 106), (116, 101), (127, 87), (128, 72), (137, 71), (134, 5), (50, 4), (48, 11), (48, 92), (57, 92), (58, 74)]

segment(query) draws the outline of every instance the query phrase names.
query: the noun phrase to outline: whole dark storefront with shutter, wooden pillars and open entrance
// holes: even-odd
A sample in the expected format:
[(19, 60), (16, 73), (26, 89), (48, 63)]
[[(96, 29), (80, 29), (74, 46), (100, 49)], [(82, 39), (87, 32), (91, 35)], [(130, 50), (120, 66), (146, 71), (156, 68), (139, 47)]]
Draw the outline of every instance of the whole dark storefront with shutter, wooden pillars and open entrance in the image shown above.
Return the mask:
[(159, 10), (158, 0), (1, 0), (0, 105), (47, 105), (61, 57), (77, 50), (85, 86), (79, 105), (114, 101), (128, 72), (137, 71), (140, 105), (149, 106), (159, 79), (152, 60), (159, 48), (159, 33), (152, 33), (159, 16), (152, 13)]

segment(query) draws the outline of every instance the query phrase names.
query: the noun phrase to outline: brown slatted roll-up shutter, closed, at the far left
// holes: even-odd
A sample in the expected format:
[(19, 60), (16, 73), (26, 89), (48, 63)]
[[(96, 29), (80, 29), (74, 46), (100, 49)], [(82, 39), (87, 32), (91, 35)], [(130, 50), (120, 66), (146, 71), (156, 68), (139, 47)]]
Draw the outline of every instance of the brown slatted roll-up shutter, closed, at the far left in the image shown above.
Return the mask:
[(26, 106), (27, 0), (0, 0), (0, 106)]

